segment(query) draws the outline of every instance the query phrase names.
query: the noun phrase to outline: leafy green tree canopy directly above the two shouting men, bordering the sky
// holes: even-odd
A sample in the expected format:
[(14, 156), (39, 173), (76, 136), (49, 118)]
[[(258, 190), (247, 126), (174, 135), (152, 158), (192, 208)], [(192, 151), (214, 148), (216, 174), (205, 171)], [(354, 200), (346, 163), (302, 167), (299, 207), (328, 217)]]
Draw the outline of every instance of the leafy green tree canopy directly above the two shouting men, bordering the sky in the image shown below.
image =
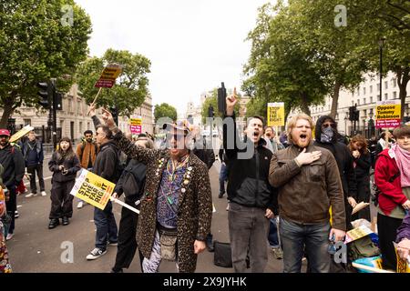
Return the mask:
[(248, 35), (251, 56), (242, 90), (265, 104), (284, 102), (286, 115), (296, 108), (309, 115), (309, 105), (322, 103), (328, 88), (298, 37), (302, 27), (292, 9), (282, 1), (261, 6)]

